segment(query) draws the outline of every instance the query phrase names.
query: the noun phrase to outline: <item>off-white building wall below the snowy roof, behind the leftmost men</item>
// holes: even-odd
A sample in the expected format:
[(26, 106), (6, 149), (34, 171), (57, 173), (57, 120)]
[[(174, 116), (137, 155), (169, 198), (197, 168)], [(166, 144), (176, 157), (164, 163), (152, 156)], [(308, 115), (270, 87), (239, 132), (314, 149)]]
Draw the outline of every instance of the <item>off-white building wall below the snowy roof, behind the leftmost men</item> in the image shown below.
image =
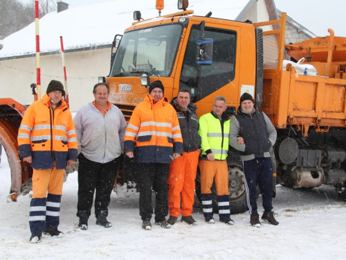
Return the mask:
[[(111, 57), (110, 48), (65, 53), (70, 110), (77, 111), (93, 101), (93, 86), (98, 76), (107, 76)], [(41, 94), (51, 80), (64, 84), (60, 54), (41, 56)], [(36, 57), (0, 60), (0, 98), (13, 98), (25, 105), (33, 102), (30, 84), (36, 83)]]

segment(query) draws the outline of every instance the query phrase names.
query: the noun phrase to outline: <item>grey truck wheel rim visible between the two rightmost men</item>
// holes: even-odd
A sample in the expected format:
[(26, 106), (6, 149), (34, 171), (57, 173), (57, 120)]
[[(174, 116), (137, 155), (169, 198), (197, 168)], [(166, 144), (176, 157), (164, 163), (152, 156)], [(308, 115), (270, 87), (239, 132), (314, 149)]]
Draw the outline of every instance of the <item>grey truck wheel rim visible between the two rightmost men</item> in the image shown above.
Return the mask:
[(228, 191), (230, 202), (242, 200), (245, 196), (244, 173), (238, 164), (228, 165)]

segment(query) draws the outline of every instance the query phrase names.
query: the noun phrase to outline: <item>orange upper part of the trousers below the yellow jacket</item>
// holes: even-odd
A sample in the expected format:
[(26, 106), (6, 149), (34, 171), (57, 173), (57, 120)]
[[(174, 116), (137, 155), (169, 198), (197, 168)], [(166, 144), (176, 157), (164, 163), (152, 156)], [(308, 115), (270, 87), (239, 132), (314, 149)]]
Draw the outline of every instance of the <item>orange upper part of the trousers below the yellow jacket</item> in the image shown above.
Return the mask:
[(199, 162), (201, 170), (201, 193), (212, 193), (212, 182), (215, 180), (217, 195), (230, 195), (228, 191), (228, 166), (227, 161), (207, 161)]

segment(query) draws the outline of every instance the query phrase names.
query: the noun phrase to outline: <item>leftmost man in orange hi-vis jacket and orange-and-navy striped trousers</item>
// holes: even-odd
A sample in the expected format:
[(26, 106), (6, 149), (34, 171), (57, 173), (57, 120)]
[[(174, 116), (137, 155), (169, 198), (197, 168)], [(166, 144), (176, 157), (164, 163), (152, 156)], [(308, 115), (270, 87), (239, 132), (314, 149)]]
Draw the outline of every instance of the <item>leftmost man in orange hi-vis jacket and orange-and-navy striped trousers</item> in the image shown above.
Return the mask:
[(33, 167), (31, 243), (41, 241), (42, 232), (63, 236), (57, 227), (64, 168), (75, 164), (78, 151), (75, 126), (64, 95), (62, 83), (52, 80), (43, 98), (28, 107), (18, 131), (20, 156)]

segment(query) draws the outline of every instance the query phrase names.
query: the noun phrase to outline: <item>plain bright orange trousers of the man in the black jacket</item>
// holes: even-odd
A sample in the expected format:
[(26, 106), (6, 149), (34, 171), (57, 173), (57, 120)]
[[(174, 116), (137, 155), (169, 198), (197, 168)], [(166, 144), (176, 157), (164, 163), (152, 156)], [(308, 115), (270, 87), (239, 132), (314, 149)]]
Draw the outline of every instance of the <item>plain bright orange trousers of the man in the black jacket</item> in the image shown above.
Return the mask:
[[(170, 216), (191, 216), (194, 204), (194, 179), (196, 179), (199, 150), (174, 159), (168, 178), (168, 207)], [(180, 204), (182, 209), (180, 208)]]

